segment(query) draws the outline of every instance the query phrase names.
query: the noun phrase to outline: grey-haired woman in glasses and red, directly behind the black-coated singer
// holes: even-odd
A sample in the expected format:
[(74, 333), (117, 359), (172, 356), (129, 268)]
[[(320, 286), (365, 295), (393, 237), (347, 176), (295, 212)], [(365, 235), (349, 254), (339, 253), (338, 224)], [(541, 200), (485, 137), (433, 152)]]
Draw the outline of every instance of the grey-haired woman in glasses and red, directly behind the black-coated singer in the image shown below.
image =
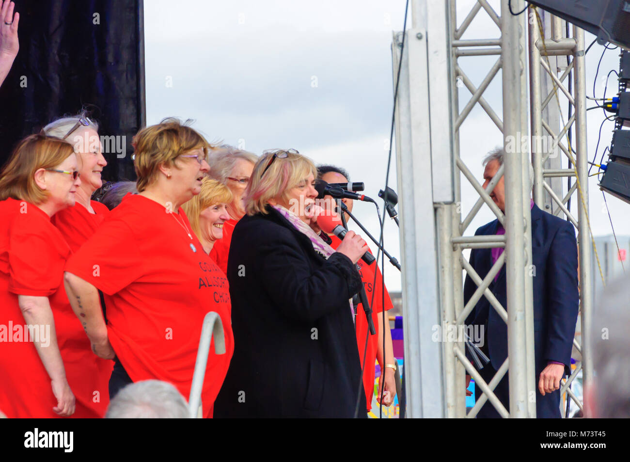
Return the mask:
[(236, 223), (245, 214), (243, 196), (257, 160), (256, 154), (234, 149), (227, 144), (215, 147), (210, 153), (208, 161), (210, 178), (223, 183), (232, 192), (232, 200), (227, 205), (229, 220), (223, 224), (223, 236), (214, 243), (212, 250), (210, 250), (210, 257), (225, 274), (227, 274), (227, 256), (232, 242), (232, 232)]

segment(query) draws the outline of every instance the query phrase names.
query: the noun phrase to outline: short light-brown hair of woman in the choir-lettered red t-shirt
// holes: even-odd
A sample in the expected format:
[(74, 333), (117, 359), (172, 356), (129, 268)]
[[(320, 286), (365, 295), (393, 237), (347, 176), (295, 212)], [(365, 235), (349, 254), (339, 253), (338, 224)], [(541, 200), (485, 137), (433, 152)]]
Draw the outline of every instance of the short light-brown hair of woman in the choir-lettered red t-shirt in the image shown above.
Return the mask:
[(196, 130), (188, 127), (178, 118), (167, 117), (159, 124), (140, 129), (134, 136), (134, 168), (137, 175), (138, 192), (151, 185), (159, 174), (159, 165), (175, 166), (175, 159), (181, 154), (202, 148), (207, 155), (209, 142)]

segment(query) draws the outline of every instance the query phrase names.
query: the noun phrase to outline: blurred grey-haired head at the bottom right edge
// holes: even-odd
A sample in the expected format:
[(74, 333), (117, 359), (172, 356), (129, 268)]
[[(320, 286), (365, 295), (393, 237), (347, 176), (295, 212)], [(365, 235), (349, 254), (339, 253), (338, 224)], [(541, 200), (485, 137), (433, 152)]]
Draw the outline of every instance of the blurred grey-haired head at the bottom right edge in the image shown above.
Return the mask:
[(607, 284), (593, 310), (591, 336), (593, 347), (593, 417), (614, 419), (630, 417), (630, 279)]

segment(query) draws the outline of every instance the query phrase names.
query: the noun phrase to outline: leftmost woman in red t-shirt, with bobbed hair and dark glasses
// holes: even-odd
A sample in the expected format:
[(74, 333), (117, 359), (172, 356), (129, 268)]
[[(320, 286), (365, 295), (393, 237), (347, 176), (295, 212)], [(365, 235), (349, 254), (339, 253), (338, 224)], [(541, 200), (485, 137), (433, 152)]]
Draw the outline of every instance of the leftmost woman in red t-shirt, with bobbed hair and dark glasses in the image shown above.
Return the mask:
[(72, 327), (63, 284), (70, 248), (50, 217), (71, 207), (81, 180), (72, 146), (26, 137), (0, 173), (0, 410), (67, 417), (75, 400), (62, 357)]

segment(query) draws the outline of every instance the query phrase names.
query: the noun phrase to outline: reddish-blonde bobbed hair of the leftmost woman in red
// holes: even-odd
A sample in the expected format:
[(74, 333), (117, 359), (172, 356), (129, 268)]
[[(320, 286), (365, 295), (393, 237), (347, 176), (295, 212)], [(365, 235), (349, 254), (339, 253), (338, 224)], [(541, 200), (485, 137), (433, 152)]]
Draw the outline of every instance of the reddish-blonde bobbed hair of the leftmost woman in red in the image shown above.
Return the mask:
[(35, 171), (54, 168), (72, 154), (72, 145), (62, 139), (43, 134), (27, 136), (15, 147), (0, 173), (0, 200), (11, 197), (42, 204), (49, 192), (35, 183)]

